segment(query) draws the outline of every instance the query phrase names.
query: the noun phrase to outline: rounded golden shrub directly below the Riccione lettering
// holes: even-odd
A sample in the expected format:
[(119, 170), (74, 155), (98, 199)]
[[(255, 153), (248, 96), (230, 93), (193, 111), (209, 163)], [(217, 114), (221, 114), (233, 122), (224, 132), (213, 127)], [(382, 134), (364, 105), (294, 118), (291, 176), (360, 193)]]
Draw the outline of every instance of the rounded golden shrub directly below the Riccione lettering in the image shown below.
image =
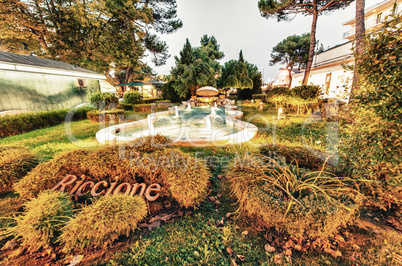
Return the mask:
[(145, 200), (122, 194), (101, 197), (85, 206), (63, 228), (60, 242), (65, 249), (107, 246), (128, 236), (147, 215)]

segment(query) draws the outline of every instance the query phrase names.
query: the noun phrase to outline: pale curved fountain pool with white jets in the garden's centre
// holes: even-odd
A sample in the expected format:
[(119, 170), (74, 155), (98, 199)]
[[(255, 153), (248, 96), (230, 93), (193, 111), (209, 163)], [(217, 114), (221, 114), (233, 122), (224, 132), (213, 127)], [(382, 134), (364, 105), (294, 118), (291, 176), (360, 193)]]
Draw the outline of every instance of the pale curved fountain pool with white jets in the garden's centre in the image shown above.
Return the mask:
[(96, 134), (103, 144), (123, 144), (139, 137), (164, 135), (176, 145), (210, 146), (242, 143), (252, 139), (256, 126), (238, 120), (243, 112), (237, 106), (169, 108), (146, 119), (114, 125)]

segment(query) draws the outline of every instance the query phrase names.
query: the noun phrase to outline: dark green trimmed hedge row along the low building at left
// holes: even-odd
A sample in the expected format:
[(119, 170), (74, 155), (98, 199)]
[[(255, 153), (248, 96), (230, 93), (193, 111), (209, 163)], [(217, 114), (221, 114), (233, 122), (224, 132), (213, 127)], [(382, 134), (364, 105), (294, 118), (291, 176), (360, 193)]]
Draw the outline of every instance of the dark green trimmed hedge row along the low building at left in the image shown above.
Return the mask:
[[(91, 110), (93, 110), (92, 107), (74, 109), (72, 121), (86, 119), (87, 112)], [(0, 117), (0, 138), (61, 124), (69, 112), (70, 109), (61, 109)]]

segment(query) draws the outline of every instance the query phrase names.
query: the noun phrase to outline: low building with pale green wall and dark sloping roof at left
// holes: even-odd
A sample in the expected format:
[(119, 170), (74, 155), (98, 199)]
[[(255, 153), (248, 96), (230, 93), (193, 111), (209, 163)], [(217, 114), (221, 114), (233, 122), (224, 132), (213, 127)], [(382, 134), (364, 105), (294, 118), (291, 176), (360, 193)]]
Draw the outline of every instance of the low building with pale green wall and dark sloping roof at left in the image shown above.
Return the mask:
[(104, 75), (65, 62), (0, 51), (0, 112), (71, 108), (100, 90)]

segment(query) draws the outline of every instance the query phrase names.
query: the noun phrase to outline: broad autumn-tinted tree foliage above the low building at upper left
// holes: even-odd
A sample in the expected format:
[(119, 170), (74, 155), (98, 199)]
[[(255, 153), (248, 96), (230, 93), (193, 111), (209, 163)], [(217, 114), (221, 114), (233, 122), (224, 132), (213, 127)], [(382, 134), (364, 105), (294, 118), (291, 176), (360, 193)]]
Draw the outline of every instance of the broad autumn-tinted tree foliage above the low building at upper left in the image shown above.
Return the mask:
[(156, 33), (181, 26), (176, 0), (0, 0), (0, 39), (6, 49), (24, 45), (39, 56), (97, 71), (113, 63), (129, 73), (146, 50), (156, 65), (164, 64), (167, 46)]

